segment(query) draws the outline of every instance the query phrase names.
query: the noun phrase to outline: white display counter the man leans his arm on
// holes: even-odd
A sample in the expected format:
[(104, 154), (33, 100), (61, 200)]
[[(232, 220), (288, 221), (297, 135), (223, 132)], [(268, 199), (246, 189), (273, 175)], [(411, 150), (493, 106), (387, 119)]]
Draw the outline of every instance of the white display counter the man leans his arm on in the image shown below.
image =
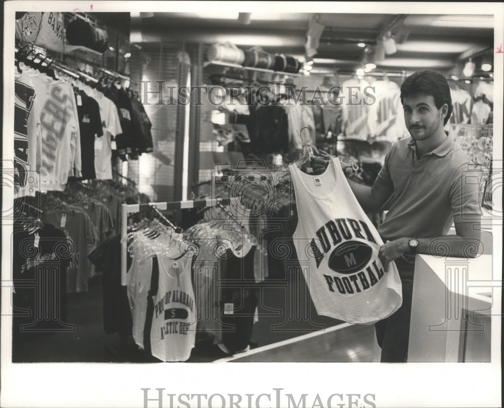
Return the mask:
[(489, 362), (492, 255), (417, 255), (408, 362)]

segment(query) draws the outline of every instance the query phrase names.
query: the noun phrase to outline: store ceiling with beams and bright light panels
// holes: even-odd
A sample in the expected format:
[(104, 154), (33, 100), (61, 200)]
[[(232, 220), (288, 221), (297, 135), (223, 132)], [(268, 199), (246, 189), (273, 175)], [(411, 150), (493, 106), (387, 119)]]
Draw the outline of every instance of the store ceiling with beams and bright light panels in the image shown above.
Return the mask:
[[(132, 18), (133, 42), (231, 42), (247, 48), (302, 58), (308, 13), (253, 13), (249, 25), (238, 22), (238, 13), (151, 13)], [(411, 72), (437, 69), (449, 72), (459, 62), (493, 47), (493, 16), (319, 14), (325, 25), (312, 72), (354, 70), (364, 55), (372, 56), (376, 40), (392, 30), (397, 52), (375, 62), (377, 70)], [(357, 43), (363, 42), (361, 48)], [(479, 56), (482, 58), (482, 56)], [(475, 60), (475, 62), (477, 62)], [(476, 75), (478, 72), (476, 72)]]

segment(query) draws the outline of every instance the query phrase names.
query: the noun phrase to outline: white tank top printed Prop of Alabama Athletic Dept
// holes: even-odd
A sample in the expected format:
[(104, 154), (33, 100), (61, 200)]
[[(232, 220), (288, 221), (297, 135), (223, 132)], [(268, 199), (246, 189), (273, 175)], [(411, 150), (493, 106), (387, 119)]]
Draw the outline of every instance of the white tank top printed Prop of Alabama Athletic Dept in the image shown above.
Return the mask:
[[(185, 361), (191, 357), (197, 321), (191, 262), (188, 256), (173, 260), (157, 254), (152, 259), (150, 307), (144, 333), (150, 337), (150, 353), (161, 361)], [(144, 345), (147, 347), (145, 335)]]

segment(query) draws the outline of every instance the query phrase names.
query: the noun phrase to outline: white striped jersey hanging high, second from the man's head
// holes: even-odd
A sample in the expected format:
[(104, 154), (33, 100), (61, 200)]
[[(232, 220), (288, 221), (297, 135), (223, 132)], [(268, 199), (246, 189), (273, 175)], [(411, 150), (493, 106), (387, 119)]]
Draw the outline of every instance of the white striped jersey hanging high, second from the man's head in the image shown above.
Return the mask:
[[(343, 109), (343, 125), (347, 139), (367, 140), (369, 127), (367, 117), (369, 115), (370, 98), (366, 97), (364, 89), (369, 83), (364, 80), (350, 79), (342, 84), (345, 94), (348, 96), (341, 105)], [(366, 90), (367, 91), (367, 90)], [(369, 94), (369, 92), (367, 92)]]

